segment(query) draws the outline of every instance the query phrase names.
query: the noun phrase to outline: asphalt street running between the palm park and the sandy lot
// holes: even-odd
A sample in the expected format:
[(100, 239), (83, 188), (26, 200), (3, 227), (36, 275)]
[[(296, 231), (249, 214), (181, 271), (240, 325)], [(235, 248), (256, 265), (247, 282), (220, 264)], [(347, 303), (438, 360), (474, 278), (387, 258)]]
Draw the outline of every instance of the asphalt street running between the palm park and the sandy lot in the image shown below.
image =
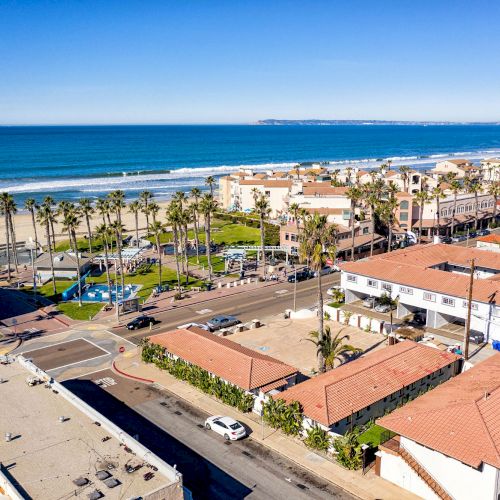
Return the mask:
[[(340, 273), (323, 276), (322, 282), (326, 298), (327, 288), (340, 282)], [(185, 323), (203, 323), (217, 314), (230, 314), (245, 323), (253, 319), (263, 320), (282, 313), (285, 309), (292, 309), (293, 289), (293, 283), (282, 283), (195, 305), (182, 306), (179, 304), (174, 310), (158, 314), (155, 314), (154, 309), (145, 309), (144, 313), (150, 314), (160, 321), (153, 328), (153, 333), (171, 330)], [(314, 306), (316, 296), (316, 279), (297, 283), (297, 309)], [(148, 328), (129, 331), (125, 327), (121, 327), (113, 328), (113, 332), (135, 343), (151, 334)]]

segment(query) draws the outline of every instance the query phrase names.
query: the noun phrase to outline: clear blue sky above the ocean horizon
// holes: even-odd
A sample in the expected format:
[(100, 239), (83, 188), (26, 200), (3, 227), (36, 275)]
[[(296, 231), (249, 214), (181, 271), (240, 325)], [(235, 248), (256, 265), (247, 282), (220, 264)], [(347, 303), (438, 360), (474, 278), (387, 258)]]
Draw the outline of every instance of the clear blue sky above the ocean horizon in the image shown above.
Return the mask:
[(0, 0), (0, 124), (500, 120), (498, 0)]

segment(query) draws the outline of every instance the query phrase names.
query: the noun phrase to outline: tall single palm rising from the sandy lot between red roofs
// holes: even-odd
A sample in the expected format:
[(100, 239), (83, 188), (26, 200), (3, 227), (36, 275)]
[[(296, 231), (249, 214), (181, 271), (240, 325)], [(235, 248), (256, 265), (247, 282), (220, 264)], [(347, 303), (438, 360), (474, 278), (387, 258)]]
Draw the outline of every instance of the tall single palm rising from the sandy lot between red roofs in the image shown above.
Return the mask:
[[(325, 215), (313, 214), (307, 216), (300, 237), (299, 257), (302, 262), (308, 260), (310, 266), (316, 271), (317, 299), (318, 299), (318, 340), (323, 341), (323, 290), (321, 288), (321, 269), (326, 258), (332, 254), (335, 242), (335, 226), (328, 224)], [(333, 249), (333, 254), (335, 250)], [(323, 352), (317, 352), (318, 371), (325, 371), (325, 358)]]

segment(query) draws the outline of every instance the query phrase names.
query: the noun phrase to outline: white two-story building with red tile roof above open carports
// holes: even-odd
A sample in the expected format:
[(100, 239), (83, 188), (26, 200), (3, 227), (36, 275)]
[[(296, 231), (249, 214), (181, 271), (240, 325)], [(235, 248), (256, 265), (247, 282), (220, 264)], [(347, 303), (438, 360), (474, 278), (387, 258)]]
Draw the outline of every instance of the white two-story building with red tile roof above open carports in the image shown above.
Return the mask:
[(346, 303), (366, 297), (397, 298), (396, 317), (416, 312), (426, 325), (465, 324), (471, 260), (474, 259), (471, 330), (500, 340), (500, 255), (454, 245), (416, 245), (342, 264)]

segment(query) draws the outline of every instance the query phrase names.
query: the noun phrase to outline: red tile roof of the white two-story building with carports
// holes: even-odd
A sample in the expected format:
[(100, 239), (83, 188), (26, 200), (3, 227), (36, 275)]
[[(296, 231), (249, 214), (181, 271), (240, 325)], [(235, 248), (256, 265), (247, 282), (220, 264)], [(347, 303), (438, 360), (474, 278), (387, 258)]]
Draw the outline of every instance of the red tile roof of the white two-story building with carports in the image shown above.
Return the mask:
[[(441, 271), (431, 266), (449, 263), (467, 268), (472, 258), (476, 267), (500, 270), (499, 253), (444, 244), (415, 245), (358, 262), (346, 262), (342, 264), (342, 270), (390, 283), (466, 298), (469, 285), (467, 275)], [(497, 303), (499, 293), (500, 286), (497, 281), (474, 280), (474, 300)]]

